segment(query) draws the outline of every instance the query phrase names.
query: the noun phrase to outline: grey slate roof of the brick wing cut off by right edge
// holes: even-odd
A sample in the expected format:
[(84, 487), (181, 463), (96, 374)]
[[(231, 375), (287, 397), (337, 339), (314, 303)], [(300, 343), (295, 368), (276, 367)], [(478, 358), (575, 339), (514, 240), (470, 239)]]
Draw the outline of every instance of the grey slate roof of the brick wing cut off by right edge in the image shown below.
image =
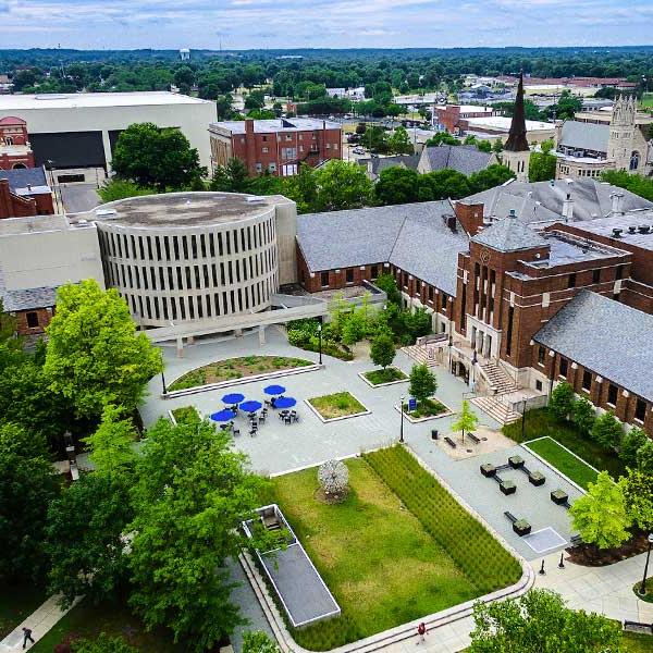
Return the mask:
[(581, 291), (533, 340), (653, 402), (653, 316), (603, 295)]

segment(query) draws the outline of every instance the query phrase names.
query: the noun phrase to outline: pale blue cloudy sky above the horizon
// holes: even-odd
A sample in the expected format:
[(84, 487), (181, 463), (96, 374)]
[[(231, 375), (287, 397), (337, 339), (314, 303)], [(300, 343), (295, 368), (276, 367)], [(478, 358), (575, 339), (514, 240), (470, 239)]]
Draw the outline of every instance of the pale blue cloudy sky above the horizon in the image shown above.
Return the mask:
[(652, 24), (652, 0), (0, 0), (9, 48), (617, 46)]

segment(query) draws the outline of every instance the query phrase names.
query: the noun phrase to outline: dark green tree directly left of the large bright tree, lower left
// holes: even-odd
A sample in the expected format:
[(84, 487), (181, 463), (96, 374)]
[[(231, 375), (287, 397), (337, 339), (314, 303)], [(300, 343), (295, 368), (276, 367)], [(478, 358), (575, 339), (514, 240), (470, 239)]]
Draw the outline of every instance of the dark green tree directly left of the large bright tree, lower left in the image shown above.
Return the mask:
[(127, 578), (125, 528), (133, 519), (128, 476), (82, 473), (48, 510), (49, 590), (62, 604), (75, 596), (120, 597)]

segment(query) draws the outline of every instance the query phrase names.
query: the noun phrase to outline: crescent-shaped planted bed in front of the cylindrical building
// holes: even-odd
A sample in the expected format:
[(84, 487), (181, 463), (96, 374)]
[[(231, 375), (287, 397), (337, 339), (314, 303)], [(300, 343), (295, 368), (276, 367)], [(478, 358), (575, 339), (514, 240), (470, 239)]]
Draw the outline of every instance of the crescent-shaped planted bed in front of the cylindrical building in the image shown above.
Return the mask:
[(169, 387), (171, 392), (176, 390), (186, 390), (187, 387), (198, 387), (222, 381), (232, 381), (264, 374), (266, 372), (280, 372), (295, 368), (315, 365), (310, 360), (303, 358), (289, 358), (287, 356), (243, 356), (239, 358), (227, 358), (210, 362), (200, 368), (186, 372), (183, 377), (176, 379)]

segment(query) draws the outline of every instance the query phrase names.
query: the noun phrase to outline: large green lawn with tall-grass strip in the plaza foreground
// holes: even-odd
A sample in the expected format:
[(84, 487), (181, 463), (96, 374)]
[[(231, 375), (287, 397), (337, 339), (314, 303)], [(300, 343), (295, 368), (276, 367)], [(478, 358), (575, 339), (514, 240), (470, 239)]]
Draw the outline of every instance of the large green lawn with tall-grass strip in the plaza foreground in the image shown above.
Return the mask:
[[(328, 505), (316, 498), (315, 468), (272, 481), (272, 496), (267, 498), (280, 504), (343, 611), (336, 619), (295, 630), (293, 636), (301, 646), (330, 650), (489, 591), (486, 582), (479, 584), (478, 577), (459, 564), (458, 556), (451, 555), (446, 546), (451, 541), (440, 538), (432, 525), (420, 521), (406, 501), (383, 482), (385, 460), (395, 469), (402, 465), (402, 454), (409, 456), (403, 449), (399, 456), (395, 449), (385, 451), (387, 457), (371, 454), (347, 461), (350, 493), (340, 504)], [(423, 470), (422, 473), (429, 476)], [(423, 485), (420, 492), (410, 491), (415, 501), (421, 505), (431, 496), (438, 502), (438, 491), (433, 491), (428, 479), (419, 480)], [(452, 498), (448, 494), (447, 497)], [(460, 549), (465, 545), (468, 550), (468, 556), (482, 556), (472, 566), (478, 564), (486, 579), (492, 577), (500, 553), (496, 550), (501, 550), (500, 557), (503, 554), (512, 571), (509, 578), (503, 578), (503, 584), (519, 578), (516, 560), (453, 503), (453, 507), (440, 506), (444, 508), (443, 519), (446, 518), (443, 528), (451, 527), (453, 533), (451, 540), (461, 534), (461, 522), (471, 522), (485, 534), (479, 550), (469, 541), (459, 542)], [(457, 523), (449, 525), (452, 519)], [(489, 584), (492, 589), (498, 587), (493, 581)]]

